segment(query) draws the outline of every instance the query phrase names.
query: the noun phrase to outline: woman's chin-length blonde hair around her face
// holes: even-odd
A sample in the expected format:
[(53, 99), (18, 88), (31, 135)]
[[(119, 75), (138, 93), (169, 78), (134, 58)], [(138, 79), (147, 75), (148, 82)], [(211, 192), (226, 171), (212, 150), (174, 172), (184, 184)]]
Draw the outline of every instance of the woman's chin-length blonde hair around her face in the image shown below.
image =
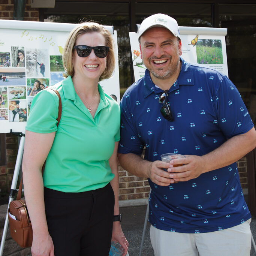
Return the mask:
[(72, 63), (72, 56), (73, 56), (73, 47), (75, 46), (76, 40), (79, 36), (84, 33), (93, 33), (98, 32), (102, 34), (105, 38), (105, 46), (109, 47), (108, 56), (107, 56), (107, 63), (106, 69), (101, 74), (99, 80), (107, 79), (111, 77), (112, 73), (115, 69), (115, 55), (114, 55), (114, 40), (108, 30), (106, 30), (102, 25), (96, 22), (82, 22), (70, 32), (65, 47), (64, 47), (64, 54), (62, 56), (63, 59), (63, 66), (65, 72), (63, 74), (64, 77), (71, 76), (73, 77), (75, 70)]

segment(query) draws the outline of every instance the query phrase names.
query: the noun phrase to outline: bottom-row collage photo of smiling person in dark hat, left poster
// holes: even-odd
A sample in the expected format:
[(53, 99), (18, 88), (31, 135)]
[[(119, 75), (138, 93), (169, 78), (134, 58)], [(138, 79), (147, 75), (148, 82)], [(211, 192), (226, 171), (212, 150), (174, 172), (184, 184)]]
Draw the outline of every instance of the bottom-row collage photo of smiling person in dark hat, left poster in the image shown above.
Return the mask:
[(9, 100), (9, 122), (27, 121), (27, 101)]

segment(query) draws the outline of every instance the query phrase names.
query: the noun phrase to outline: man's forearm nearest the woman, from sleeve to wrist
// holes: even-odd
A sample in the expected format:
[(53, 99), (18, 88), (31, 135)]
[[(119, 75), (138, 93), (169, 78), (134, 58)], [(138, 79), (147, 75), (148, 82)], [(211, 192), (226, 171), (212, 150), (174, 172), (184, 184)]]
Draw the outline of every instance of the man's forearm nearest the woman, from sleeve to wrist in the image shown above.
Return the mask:
[(144, 160), (142, 157), (133, 153), (118, 153), (118, 160), (127, 172), (138, 177), (148, 178), (148, 171), (151, 169), (152, 162)]

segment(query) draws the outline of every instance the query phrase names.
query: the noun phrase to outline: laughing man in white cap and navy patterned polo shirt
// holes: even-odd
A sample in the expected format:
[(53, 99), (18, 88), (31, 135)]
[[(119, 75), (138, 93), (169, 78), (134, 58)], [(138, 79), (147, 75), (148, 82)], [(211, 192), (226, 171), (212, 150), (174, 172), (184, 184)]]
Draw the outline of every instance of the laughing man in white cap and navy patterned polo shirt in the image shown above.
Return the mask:
[[(155, 255), (250, 255), (251, 216), (235, 162), (255, 148), (256, 132), (238, 90), (180, 57), (179, 27), (167, 15), (146, 18), (139, 43), (147, 70), (120, 103), (118, 158), (150, 183)], [(186, 158), (165, 163), (164, 153)]]

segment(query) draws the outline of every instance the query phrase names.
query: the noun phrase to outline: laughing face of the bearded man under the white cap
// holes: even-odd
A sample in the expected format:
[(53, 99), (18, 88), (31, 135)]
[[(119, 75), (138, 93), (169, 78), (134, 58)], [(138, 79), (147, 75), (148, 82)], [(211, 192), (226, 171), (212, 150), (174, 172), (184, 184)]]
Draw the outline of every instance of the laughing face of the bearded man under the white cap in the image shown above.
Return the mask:
[(168, 79), (179, 72), (181, 41), (168, 29), (153, 27), (140, 37), (141, 58), (156, 78)]

